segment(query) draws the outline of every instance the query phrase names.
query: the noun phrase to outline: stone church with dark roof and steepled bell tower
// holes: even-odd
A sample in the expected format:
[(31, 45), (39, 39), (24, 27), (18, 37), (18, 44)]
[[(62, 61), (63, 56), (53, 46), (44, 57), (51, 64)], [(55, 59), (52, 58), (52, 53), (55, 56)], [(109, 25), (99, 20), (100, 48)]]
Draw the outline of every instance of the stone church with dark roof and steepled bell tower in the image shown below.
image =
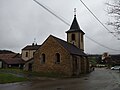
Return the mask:
[(67, 41), (50, 35), (34, 53), (33, 71), (55, 72), (67, 76), (79, 76), (89, 72), (89, 61), (84, 53), (84, 32), (80, 29), (76, 14)]

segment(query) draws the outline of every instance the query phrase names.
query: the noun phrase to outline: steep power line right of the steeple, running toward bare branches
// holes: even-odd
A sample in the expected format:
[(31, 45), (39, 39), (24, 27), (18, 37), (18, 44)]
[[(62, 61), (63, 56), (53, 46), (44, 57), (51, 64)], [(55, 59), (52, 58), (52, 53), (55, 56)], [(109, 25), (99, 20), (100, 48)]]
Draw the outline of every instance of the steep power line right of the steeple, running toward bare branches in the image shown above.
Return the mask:
[[(93, 15), (93, 17), (109, 32), (111, 33), (111, 31), (99, 20), (99, 18), (88, 8), (88, 6), (82, 1), (80, 0), (80, 2), (86, 7), (86, 9)], [(113, 33), (111, 33), (114, 37), (116, 37), (116, 35), (114, 35)]]

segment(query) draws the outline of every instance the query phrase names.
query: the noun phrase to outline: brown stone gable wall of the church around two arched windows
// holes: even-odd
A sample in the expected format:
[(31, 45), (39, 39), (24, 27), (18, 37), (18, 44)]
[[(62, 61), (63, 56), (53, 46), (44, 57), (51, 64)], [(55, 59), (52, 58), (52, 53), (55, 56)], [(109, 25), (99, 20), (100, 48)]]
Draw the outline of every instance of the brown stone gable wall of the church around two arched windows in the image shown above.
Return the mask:
[[(55, 54), (60, 54), (60, 64), (55, 64)], [(41, 63), (41, 55), (45, 54), (45, 64)], [(33, 71), (57, 72), (72, 75), (71, 59), (68, 51), (64, 49), (53, 37), (49, 37), (34, 55)]]

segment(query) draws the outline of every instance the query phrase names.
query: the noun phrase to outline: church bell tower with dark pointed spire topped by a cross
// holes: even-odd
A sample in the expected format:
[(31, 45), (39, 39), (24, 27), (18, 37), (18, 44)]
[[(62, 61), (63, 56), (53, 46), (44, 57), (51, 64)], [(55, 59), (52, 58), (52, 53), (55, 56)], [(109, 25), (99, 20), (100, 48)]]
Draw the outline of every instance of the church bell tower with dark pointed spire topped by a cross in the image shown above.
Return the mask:
[(84, 51), (84, 32), (80, 29), (76, 19), (76, 8), (74, 9), (74, 19), (70, 26), (70, 29), (66, 31), (67, 42), (75, 45), (79, 49)]

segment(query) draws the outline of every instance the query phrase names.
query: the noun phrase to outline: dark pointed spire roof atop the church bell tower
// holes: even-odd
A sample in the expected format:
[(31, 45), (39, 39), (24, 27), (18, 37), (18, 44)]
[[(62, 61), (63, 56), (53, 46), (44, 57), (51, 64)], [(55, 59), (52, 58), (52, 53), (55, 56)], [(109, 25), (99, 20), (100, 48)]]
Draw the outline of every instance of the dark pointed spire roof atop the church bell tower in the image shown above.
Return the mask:
[(79, 24), (76, 19), (76, 15), (74, 16), (70, 29), (66, 33), (69, 33), (69, 32), (82, 32), (83, 34), (85, 34), (79, 27)]

